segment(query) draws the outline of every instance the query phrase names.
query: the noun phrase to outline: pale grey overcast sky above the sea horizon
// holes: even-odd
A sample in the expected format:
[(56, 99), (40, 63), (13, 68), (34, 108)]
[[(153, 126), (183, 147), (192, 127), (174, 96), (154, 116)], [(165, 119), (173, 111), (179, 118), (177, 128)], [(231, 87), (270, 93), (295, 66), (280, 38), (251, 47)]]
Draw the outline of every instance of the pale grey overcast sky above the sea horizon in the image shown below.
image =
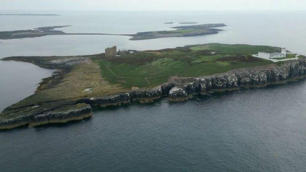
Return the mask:
[[(11, 10), (305, 10), (306, 0), (0, 0)], [(1, 12), (0, 11), (0, 12)]]

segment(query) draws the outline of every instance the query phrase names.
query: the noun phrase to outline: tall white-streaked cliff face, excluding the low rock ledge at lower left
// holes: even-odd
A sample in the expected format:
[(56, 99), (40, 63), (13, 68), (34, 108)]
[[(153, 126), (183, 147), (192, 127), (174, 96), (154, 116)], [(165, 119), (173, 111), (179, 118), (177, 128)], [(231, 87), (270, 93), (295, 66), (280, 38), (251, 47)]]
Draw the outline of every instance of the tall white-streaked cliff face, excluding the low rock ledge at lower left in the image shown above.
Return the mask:
[(93, 106), (121, 105), (129, 102), (153, 102), (162, 96), (168, 96), (169, 101), (185, 101), (195, 94), (209, 94), (216, 91), (235, 91), (242, 87), (262, 87), (288, 81), (306, 74), (304, 59), (292, 60), (282, 65), (268, 65), (253, 68), (231, 70), (226, 73), (203, 77), (179, 78), (162, 84), (154, 89), (136, 90), (115, 96), (84, 98), (78, 103)]

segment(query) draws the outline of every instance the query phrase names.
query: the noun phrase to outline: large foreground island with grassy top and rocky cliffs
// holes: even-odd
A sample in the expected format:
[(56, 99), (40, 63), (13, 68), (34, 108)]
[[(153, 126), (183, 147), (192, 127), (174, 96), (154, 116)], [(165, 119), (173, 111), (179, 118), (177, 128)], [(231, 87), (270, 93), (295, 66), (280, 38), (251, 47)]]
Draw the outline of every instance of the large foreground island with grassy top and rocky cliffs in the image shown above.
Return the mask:
[[(57, 69), (35, 93), (0, 113), (0, 129), (64, 123), (92, 116), (92, 107), (131, 102), (170, 102), (196, 95), (264, 87), (306, 75), (306, 57), (272, 62), (253, 57), (281, 48), (245, 44), (198, 44), (120, 55), (15, 56), (15, 60)], [(116, 53), (116, 52), (113, 52)], [(122, 52), (118, 52), (122, 53)]]

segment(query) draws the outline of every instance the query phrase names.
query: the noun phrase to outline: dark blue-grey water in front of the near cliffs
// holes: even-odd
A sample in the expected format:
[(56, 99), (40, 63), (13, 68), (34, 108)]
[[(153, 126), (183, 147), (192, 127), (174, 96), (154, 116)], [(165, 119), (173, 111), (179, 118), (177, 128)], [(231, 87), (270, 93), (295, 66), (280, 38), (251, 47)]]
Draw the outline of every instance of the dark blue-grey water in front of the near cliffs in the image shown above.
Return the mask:
[(306, 82), (0, 133), (0, 171), (305, 171)]

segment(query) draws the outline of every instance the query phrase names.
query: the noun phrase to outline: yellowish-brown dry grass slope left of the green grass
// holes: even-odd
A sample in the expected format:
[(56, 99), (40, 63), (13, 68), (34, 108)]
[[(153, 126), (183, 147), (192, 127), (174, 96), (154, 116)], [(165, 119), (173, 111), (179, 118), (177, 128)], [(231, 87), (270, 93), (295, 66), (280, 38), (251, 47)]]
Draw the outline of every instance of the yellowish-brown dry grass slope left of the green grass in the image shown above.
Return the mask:
[[(42, 82), (40, 89), (35, 94), (12, 105), (23, 107), (29, 104), (40, 105), (43, 102), (60, 100), (76, 100), (83, 97), (109, 96), (120, 92), (129, 91), (119, 84), (111, 84), (105, 81), (100, 68), (96, 63), (81, 64), (74, 66), (68, 73), (59, 74), (60, 78)], [(92, 88), (91, 92), (84, 89)]]

